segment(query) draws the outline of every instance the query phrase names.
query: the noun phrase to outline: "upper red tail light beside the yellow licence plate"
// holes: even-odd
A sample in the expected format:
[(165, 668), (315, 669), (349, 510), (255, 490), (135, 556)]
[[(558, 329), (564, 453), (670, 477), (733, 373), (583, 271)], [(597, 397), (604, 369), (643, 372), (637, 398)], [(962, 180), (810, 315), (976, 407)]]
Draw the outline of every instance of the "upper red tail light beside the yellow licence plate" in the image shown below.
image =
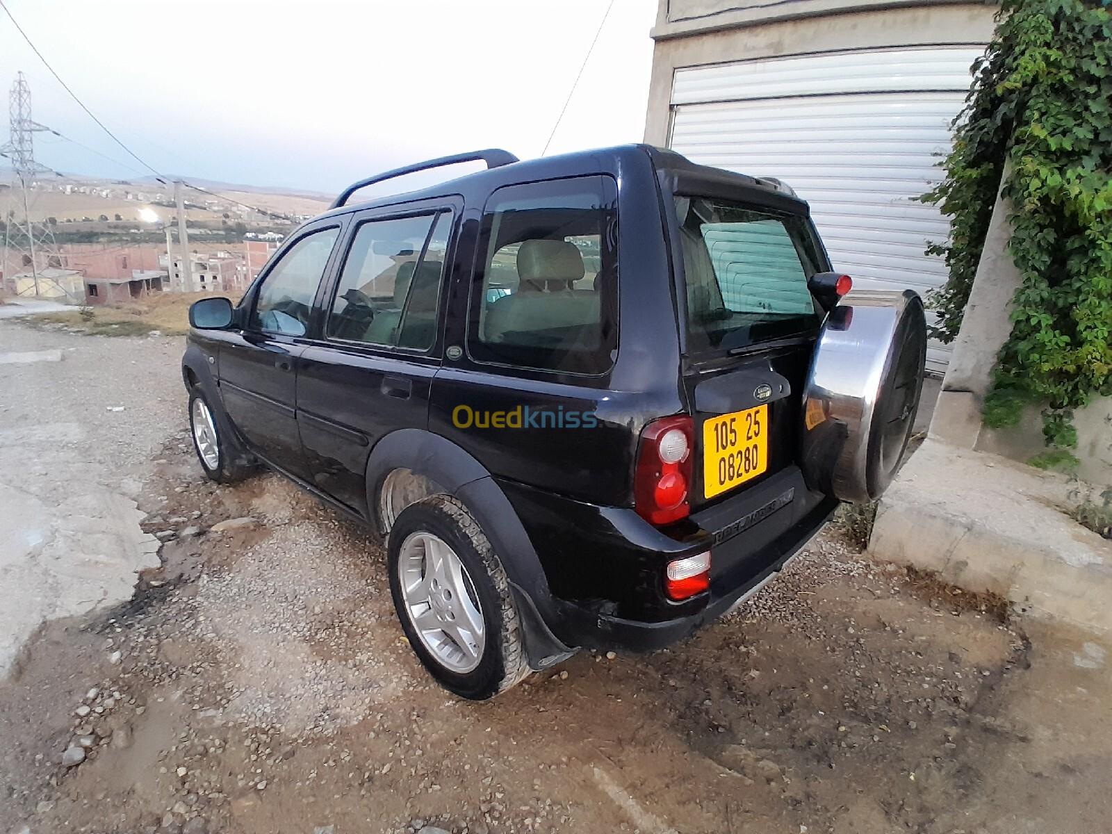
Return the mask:
[(686, 415), (649, 423), (641, 433), (634, 502), (645, 520), (663, 525), (691, 513), (694, 424)]

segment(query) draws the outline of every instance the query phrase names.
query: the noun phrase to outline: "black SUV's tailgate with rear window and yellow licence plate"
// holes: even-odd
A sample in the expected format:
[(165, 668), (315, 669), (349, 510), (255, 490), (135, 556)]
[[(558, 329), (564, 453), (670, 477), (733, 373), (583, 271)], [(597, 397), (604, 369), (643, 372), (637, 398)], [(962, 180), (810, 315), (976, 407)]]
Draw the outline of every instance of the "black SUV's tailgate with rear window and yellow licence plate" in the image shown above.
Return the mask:
[(798, 404), (821, 310), (823, 252), (805, 216), (743, 200), (675, 198), (695, 417), (692, 508), (796, 463)]

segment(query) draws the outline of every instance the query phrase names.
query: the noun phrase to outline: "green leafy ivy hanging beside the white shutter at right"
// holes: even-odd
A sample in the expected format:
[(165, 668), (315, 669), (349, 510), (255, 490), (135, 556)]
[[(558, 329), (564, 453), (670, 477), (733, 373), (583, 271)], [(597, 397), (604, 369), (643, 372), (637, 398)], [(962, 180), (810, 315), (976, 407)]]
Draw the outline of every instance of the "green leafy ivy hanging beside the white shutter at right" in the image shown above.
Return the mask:
[(1004, 0), (955, 122), (945, 180), (923, 200), (951, 218), (950, 270), (932, 297), (953, 340), (1005, 162), (1009, 249), (1022, 275), (1000, 351), (989, 425), (1046, 404), (1043, 434), (1076, 446), (1073, 409), (1112, 394), (1112, 13), (1084, 0)]

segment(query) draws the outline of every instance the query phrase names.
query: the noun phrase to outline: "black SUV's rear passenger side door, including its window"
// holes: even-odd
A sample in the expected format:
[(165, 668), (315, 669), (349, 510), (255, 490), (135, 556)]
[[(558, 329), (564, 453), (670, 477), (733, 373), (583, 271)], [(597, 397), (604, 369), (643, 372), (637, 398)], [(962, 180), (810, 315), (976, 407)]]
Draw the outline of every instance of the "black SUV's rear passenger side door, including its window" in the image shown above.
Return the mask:
[(368, 509), (375, 443), (428, 424), (461, 208), (450, 198), (357, 214), (325, 294), (321, 332), (301, 355), (298, 424), (312, 483), (356, 512)]

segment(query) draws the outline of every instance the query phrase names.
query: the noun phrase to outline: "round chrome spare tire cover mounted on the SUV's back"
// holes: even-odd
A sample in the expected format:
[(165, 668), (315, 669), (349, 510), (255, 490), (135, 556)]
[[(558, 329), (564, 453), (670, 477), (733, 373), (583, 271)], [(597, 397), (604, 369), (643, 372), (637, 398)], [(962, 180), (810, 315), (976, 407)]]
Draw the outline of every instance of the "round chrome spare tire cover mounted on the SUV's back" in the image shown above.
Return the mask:
[(911, 438), (925, 361), (915, 292), (831, 310), (803, 391), (800, 460), (812, 488), (846, 502), (881, 496)]

